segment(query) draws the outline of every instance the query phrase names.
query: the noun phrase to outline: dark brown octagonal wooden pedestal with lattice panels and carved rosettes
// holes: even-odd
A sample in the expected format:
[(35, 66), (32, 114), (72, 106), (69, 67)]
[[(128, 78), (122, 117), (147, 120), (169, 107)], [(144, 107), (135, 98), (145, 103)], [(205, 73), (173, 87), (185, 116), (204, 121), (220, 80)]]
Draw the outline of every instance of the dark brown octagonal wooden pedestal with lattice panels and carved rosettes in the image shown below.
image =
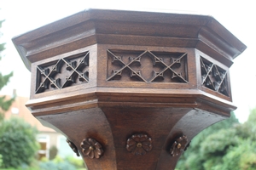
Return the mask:
[(90, 9), (13, 39), (32, 115), (94, 169), (174, 169), (230, 116), (229, 68), (246, 46), (210, 16)]

